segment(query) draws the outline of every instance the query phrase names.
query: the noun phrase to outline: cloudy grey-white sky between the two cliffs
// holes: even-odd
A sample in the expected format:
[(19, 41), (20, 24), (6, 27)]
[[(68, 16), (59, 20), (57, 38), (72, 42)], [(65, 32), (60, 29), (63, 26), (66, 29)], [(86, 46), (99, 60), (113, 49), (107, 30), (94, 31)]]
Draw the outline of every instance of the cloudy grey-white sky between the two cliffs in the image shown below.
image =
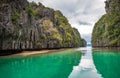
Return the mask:
[(105, 14), (105, 0), (28, 0), (60, 10), (72, 27), (78, 29), (87, 43), (91, 42), (94, 24)]

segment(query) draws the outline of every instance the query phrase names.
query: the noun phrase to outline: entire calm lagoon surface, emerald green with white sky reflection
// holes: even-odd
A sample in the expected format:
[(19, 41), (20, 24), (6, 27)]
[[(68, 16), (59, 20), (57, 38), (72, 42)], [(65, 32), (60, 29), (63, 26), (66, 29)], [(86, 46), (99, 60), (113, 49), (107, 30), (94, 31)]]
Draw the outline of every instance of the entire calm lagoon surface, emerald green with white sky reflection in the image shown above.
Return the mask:
[(120, 78), (120, 52), (91, 47), (0, 57), (0, 78)]

